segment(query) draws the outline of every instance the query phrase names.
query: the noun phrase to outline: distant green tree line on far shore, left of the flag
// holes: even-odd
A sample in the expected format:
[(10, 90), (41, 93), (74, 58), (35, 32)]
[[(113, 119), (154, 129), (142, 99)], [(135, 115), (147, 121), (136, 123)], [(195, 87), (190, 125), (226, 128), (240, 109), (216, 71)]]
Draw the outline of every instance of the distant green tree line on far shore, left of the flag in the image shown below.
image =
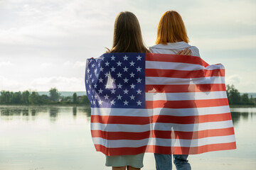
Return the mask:
[(76, 93), (73, 96), (60, 96), (58, 89), (52, 88), (49, 90), (49, 96), (46, 94), (39, 95), (36, 91), (1, 91), (0, 94), (1, 104), (85, 104), (89, 105), (87, 96), (78, 96)]

